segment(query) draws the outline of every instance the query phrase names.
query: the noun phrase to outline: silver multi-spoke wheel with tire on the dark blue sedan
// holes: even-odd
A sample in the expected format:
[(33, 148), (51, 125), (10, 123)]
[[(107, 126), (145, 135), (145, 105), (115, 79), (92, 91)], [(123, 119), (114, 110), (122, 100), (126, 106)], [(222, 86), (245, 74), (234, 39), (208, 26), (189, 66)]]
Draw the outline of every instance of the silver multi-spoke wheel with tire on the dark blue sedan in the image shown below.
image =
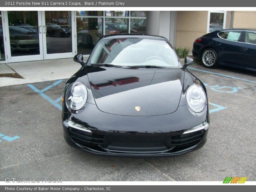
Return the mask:
[(214, 49), (205, 49), (202, 54), (202, 62), (204, 67), (216, 68), (218, 66), (218, 55)]

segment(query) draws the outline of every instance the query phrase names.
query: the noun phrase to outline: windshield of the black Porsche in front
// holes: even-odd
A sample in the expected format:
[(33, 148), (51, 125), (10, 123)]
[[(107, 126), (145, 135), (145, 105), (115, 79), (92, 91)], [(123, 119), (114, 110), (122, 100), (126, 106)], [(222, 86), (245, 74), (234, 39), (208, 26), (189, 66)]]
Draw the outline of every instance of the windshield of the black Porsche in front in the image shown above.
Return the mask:
[(179, 59), (165, 41), (140, 38), (101, 40), (95, 47), (91, 64), (119, 66), (161, 66), (180, 68)]

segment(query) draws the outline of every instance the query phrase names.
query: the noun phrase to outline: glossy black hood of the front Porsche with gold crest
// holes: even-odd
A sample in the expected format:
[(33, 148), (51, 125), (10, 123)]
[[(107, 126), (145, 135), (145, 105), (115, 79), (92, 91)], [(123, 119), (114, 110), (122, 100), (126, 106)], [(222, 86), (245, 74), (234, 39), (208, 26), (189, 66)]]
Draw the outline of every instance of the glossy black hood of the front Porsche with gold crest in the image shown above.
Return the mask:
[[(97, 107), (124, 116), (169, 114), (179, 106), (182, 68), (114, 68), (87, 66)], [(135, 107), (140, 107), (136, 111)]]

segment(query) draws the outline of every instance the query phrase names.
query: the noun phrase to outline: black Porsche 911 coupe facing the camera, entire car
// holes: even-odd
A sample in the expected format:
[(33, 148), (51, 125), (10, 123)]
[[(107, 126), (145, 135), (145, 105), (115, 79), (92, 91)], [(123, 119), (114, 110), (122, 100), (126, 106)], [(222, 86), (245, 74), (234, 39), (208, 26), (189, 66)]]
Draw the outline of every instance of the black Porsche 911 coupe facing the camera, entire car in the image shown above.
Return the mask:
[(160, 36), (102, 36), (66, 83), (64, 138), (93, 154), (177, 156), (201, 148), (209, 128), (204, 84)]

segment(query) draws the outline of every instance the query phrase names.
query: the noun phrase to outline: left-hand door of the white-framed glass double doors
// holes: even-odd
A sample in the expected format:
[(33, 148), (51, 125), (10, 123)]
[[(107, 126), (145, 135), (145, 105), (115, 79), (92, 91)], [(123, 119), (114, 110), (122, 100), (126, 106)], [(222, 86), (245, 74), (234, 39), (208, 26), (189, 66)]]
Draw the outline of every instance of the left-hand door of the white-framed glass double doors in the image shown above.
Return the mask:
[(8, 11), (3, 16), (8, 62), (42, 60), (41, 13)]

